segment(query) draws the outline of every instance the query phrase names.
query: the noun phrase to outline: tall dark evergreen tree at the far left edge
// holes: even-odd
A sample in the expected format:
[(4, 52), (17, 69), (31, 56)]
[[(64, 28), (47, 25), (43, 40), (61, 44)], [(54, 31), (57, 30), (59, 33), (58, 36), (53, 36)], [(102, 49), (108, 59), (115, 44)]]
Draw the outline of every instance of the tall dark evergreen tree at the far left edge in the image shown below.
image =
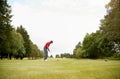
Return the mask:
[(7, 47), (9, 47), (10, 32), (12, 31), (11, 7), (7, 4), (7, 0), (0, 0), (0, 57), (6, 56)]

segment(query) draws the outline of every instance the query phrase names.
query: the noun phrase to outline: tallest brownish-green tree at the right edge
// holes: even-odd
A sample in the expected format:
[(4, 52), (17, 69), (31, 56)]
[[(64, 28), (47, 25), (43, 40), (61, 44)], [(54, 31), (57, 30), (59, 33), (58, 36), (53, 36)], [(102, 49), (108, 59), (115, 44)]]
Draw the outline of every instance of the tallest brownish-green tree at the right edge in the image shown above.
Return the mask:
[[(111, 0), (106, 8), (108, 14), (101, 21), (100, 30), (112, 51), (115, 44), (120, 45), (120, 0)], [(118, 49), (120, 50), (120, 46)]]

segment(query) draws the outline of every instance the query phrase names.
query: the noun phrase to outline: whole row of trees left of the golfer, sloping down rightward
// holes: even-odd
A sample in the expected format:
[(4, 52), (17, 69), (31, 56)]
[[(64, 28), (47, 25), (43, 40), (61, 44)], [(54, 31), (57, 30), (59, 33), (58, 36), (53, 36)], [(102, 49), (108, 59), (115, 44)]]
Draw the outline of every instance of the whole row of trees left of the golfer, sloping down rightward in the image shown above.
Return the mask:
[(43, 52), (30, 40), (25, 28), (21, 25), (15, 29), (11, 25), (11, 11), (7, 0), (0, 0), (0, 59), (43, 57)]

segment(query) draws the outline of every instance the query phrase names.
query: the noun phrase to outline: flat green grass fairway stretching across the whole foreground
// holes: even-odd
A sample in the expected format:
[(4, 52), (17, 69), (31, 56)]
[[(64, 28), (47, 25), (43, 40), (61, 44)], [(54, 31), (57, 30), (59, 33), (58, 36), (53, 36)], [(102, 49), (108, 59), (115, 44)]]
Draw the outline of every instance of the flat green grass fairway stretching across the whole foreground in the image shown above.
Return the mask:
[(120, 79), (120, 61), (0, 60), (0, 79)]

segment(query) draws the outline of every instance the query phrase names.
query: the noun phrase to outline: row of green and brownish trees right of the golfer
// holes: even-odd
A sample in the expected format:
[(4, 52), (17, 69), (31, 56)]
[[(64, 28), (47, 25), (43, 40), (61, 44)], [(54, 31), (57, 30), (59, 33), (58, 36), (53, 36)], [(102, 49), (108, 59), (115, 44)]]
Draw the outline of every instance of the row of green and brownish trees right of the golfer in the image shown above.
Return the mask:
[(120, 59), (120, 0), (111, 0), (107, 15), (101, 20), (99, 30), (86, 34), (79, 42), (73, 55), (75, 58), (116, 58)]

